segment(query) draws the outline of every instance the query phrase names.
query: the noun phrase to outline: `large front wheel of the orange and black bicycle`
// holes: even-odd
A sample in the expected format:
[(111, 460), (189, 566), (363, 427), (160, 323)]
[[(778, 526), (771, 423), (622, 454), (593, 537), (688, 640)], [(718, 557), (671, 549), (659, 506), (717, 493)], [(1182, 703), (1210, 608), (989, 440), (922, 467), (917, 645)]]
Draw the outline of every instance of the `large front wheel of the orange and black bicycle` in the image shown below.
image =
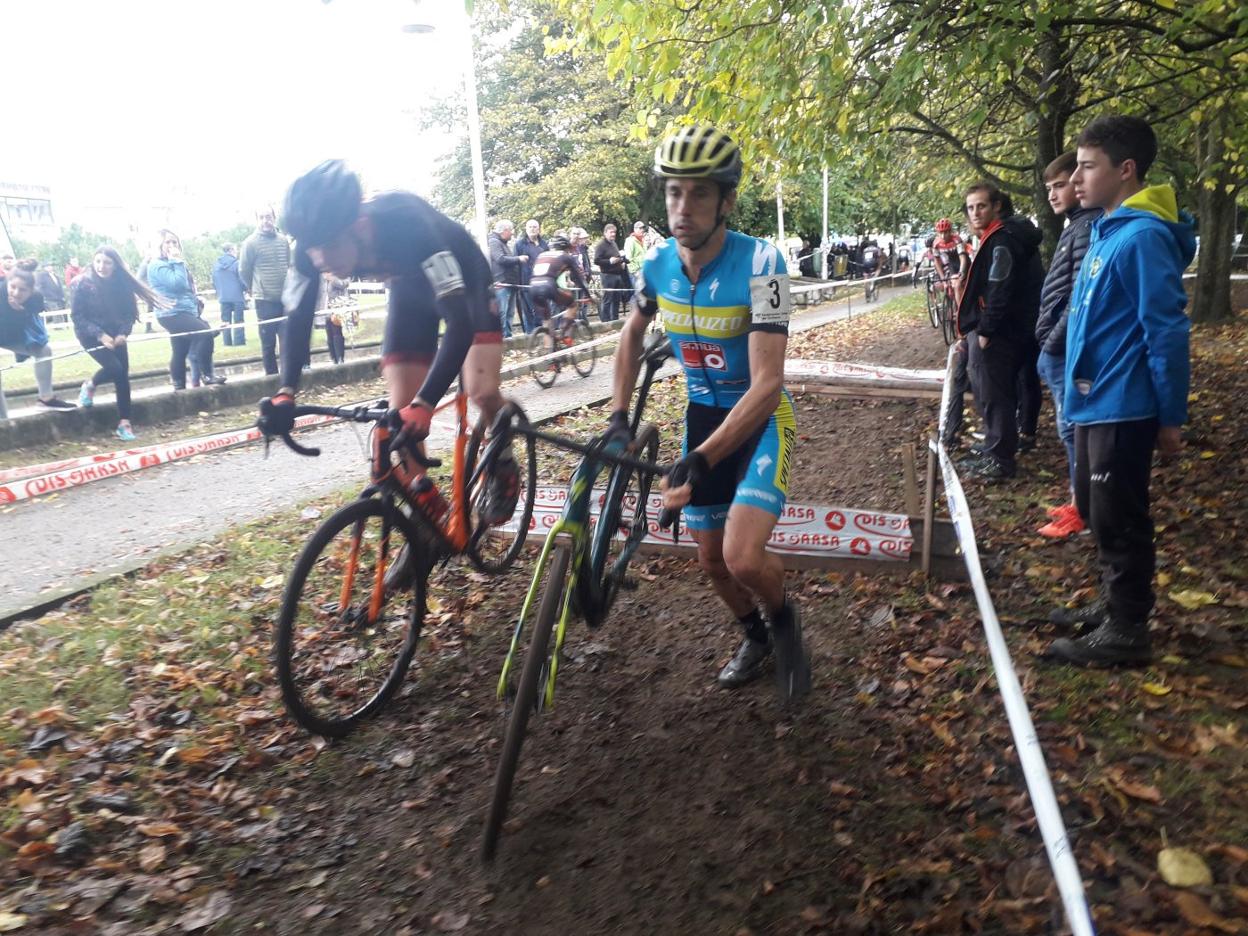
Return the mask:
[[(387, 592), (386, 569), (403, 542), (416, 582)], [(379, 498), (337, 510), (303, 547), (282, 597), (273, 661), (282, 701), (305, 729), (343, 738), (394, 695), (424, 620), (429, 549)]]

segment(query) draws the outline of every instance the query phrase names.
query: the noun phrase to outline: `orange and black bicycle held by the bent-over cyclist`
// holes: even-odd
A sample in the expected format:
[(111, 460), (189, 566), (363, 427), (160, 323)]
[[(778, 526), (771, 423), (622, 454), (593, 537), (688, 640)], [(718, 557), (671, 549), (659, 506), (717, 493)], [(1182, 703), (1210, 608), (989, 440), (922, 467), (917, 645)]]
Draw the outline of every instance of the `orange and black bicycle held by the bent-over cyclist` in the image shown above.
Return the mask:
[[(261, 403), (262, 412), (267, 403)], [(273, 635), (282, 701), (313, 734), (343, 738), (394, 695), (416, 653), (427, 578), (434, 565), (466, 554), (483, 572), (502, 572), (524, 545), (537, 483), (533, 441), (524, 439), (524, 451), (515, 453), (519, 513), (514, 534), (505, 533), (485, 509), (489, 477), (510, 439), (492, 434), (485, 442), (479, 424), (469, 432), (463, 392), (447, 406), (456, 411), (449, 503), (428, 482), (413, 485), (418, 473), (407, 459), (427, 468), (438, 468), (441, 462), (411, 446), (398, 451), (393, 444), (398, 413), (386, 401), (295, 408), (297, 417), (328, 416), (373, 426), (372, 483), (308, 538), (286, 583)], [(514, 403), (500, 416), (523, 418)], [(281, 439), (298, 454), (319, 454), (290, 434)], [(409, 574), (401, 578), (411, 579), (411, 589), (387, 583), (387, 572), (402, 552), (396, 535), (407, 545)]]

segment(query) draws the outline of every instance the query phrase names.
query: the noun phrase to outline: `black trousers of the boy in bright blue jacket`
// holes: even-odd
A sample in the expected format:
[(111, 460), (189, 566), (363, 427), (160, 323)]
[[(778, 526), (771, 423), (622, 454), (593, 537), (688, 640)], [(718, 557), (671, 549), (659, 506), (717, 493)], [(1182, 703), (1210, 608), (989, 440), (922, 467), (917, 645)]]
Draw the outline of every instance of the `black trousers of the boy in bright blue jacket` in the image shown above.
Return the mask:
[(1141, 626), (1153, 609), (1148, 482), (1157, 419), (1075, 427), (1075, 503), (1096, 537), (1109, 617)]

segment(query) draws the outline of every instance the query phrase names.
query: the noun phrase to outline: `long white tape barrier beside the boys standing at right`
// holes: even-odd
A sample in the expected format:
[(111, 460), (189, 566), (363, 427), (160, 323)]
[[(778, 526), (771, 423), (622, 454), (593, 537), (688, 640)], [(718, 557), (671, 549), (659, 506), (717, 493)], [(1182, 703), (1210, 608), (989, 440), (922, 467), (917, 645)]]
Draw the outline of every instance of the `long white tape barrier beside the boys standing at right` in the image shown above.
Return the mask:
[(1036, 824), (1040, 826), (1040, 835), (1045, 841), (1045, 851), (1048, 854), (1048, 865), (1052, 869), (1053, 880), (1057, 882), (1062, 907), (1066, 910), (1066, 920), (1075, 936), (1092, 936), (1096, 931), (1092, 926), (1087, 896), (1083, 892), (1083, 879), (1071, 849), (1066, 824), (1062, 820), (1062, 810), (1057, 804), (1057, 795), (1053, 792), (1053, 780), (1045, 763), (1045, 753), (1040, 746), (1040, 738), (1036, 735), (1036, 726), (1031, 720), (1027, 700), (1010, 656), (1010, 648), (1001, 631), (1001, 622), (992, 605), (992, 595), (988, 594), (988, 584), (980, 563), (980, 550), (975, 539), (975, 528), (971, 524), (966, 494), (962, 492), (962, 483), (953, 468), (953, 462), (950, 459), (945, 444), (940, 442), (945, 436), (945, 413), (948, 409), (950, 388), (953, 383), (953, 348), (950, 348), (945, 391), (941, 399), (940, 431), (929, 447), (940, 458), (948, 513), (953, 520), (957, 543), (966, 560), (966, 570), (971, 577), (971, 588), (975, 592), (975, 603), (983, 623), (983, 634), (988, 641), (988, 654), (992, 658), (997, 688), (1001, 691), (1006, 719), (1010, 723), (1010, 734), (1013, 736), (1015, 750), (1018, 753), (1018, 763), (1022, 765), (1023, 779), (1027, 784), (1027, 795), (1031, 797)]

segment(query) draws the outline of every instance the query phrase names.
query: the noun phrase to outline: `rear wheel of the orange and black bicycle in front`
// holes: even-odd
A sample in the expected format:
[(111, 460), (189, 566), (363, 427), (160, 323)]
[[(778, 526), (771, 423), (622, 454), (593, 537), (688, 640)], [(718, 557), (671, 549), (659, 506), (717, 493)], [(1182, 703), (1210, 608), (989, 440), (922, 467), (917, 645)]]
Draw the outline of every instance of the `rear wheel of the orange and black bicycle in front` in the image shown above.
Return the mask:
[[(514, 406), (514, 404), (512, 404)], [(472, 480), (480, 457), (495, 458), (489, 447), (482, 452), (484, 429), (478, 426), (468, 438), (468, 453), (464, 458), (464, 483)], [(505, 570), (524, 548), (529, 523), (533, 520), (533, 502), (537, 498), (538, 453), (532, 436), (517, 433), (512, 441), (512, 453), (520, 470), (520, 490), (517, 497), (519, 510), (509, 520), (490, 523), (484, 515), (489, 487), (489, 466), (482, 470), (468, 495), (468, 519), (472, 524), (468, 533), (468, 558), (482, 572), (497, 574)]]

